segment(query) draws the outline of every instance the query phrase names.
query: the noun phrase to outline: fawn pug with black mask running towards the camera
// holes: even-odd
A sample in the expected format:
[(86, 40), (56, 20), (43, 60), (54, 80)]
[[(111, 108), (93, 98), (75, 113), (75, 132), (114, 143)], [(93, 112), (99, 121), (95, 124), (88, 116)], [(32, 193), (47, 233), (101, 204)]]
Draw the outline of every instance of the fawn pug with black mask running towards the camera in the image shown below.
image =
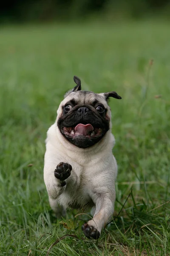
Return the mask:
[(68, 207), (94, 207), (94, 217), (82, 225), (88, 238), (98, 239), (114, 212), (117, 164), (112, 154), (109, 97), (116, 92), (81, 90), (81, 81), (65, 94), (56, 122), (48, 129), (44, 181), (57, 215)]

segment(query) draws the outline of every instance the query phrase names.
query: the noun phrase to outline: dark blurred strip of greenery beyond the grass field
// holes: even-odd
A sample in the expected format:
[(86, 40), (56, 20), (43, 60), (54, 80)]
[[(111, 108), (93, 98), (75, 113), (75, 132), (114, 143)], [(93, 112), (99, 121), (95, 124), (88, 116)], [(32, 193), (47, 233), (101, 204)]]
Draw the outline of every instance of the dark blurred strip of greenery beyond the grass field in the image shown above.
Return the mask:
[(105, 20), (161, 15), (169, 18), (169, 0), (14, 0), (3, 1), (0, 8), (2, 22), (49, 22)]

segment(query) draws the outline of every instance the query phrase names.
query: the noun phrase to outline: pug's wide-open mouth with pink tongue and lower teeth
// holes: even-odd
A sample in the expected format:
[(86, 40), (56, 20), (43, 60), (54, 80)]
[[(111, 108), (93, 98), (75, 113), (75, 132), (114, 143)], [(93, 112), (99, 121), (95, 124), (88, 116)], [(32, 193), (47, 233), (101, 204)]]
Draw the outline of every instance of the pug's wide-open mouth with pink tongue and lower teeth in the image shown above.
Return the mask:
[(73, 138), (76, 136), (82, 136), (92, 139), (102, 135), (102, 129), (94, 128), (91, 124), (83, 125), (80, 123), (75, 127), (63, 127), (62, 131), (65, 136)]

